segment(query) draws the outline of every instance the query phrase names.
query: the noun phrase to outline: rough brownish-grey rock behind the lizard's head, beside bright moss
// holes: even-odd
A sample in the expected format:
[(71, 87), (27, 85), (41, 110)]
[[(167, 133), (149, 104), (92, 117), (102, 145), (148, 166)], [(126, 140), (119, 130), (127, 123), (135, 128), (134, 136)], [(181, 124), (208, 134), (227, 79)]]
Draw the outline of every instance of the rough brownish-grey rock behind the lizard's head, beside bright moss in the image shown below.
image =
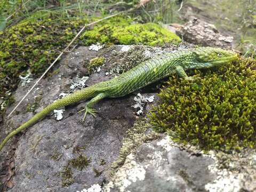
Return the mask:
[(214, 25), (197, 18), (185, 23), (177, 30), (177, 34), (184, 41), (192, 44), (229, 49), (233, 46), (233, 37), (222, 35)]

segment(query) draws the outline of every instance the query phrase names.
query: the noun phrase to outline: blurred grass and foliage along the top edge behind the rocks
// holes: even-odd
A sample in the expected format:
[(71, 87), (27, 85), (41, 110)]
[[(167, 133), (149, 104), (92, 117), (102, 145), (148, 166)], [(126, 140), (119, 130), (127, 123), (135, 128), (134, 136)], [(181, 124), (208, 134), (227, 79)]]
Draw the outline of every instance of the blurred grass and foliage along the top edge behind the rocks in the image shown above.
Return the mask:
[[(130, 16), (142, 23), (185, 23), (186, 8), (194, 15), (213, 23), (218, 29), (235, 37), (236, 49), (246, 57), (256, 57), (255, 0), (3, 0), (0, 3), (0, 29), (20, 22), (46, 17), (74, 19), (104, 17), (131, 7), (140, 7)], [(6, 20), (7, 19), (7, 20)]]

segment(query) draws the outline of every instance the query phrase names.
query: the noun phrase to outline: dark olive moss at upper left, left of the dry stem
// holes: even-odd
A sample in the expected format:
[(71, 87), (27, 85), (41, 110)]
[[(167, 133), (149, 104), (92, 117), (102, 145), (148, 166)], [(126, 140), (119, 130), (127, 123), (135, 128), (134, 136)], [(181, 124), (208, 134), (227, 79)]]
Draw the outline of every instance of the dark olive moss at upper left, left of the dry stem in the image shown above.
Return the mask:
[[(53, 18), (54, 19), (54, 18)], [(50, 65), (87, 20), (23, 22), (0, 33), (0, 97), (17, 87), (30, 68), (39, 75)]]

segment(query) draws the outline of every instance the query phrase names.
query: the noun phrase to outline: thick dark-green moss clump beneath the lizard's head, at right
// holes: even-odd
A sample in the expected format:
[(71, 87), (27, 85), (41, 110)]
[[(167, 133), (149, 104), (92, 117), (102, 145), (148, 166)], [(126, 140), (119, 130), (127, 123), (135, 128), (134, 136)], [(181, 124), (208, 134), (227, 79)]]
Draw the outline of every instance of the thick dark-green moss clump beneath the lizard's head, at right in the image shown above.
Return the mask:
[(150, 122), (172, 139), (209, 149), (256, 147), (256, 61), (240, 59), (214, 70), (195, 71), (188, 82), (171, 77)]

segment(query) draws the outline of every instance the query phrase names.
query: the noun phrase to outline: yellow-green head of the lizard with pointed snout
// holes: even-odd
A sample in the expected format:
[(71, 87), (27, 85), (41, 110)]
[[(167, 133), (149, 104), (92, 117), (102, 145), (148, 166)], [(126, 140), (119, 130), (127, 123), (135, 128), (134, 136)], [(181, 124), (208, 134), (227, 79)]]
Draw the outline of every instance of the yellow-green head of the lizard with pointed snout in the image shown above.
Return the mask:
[(193, 51), (197, 68), (209, 68), (223, 65), (234, 61), (238, 58), (238, 54), (233, 51), (226, 51), (214, 47), (199, 47)]

